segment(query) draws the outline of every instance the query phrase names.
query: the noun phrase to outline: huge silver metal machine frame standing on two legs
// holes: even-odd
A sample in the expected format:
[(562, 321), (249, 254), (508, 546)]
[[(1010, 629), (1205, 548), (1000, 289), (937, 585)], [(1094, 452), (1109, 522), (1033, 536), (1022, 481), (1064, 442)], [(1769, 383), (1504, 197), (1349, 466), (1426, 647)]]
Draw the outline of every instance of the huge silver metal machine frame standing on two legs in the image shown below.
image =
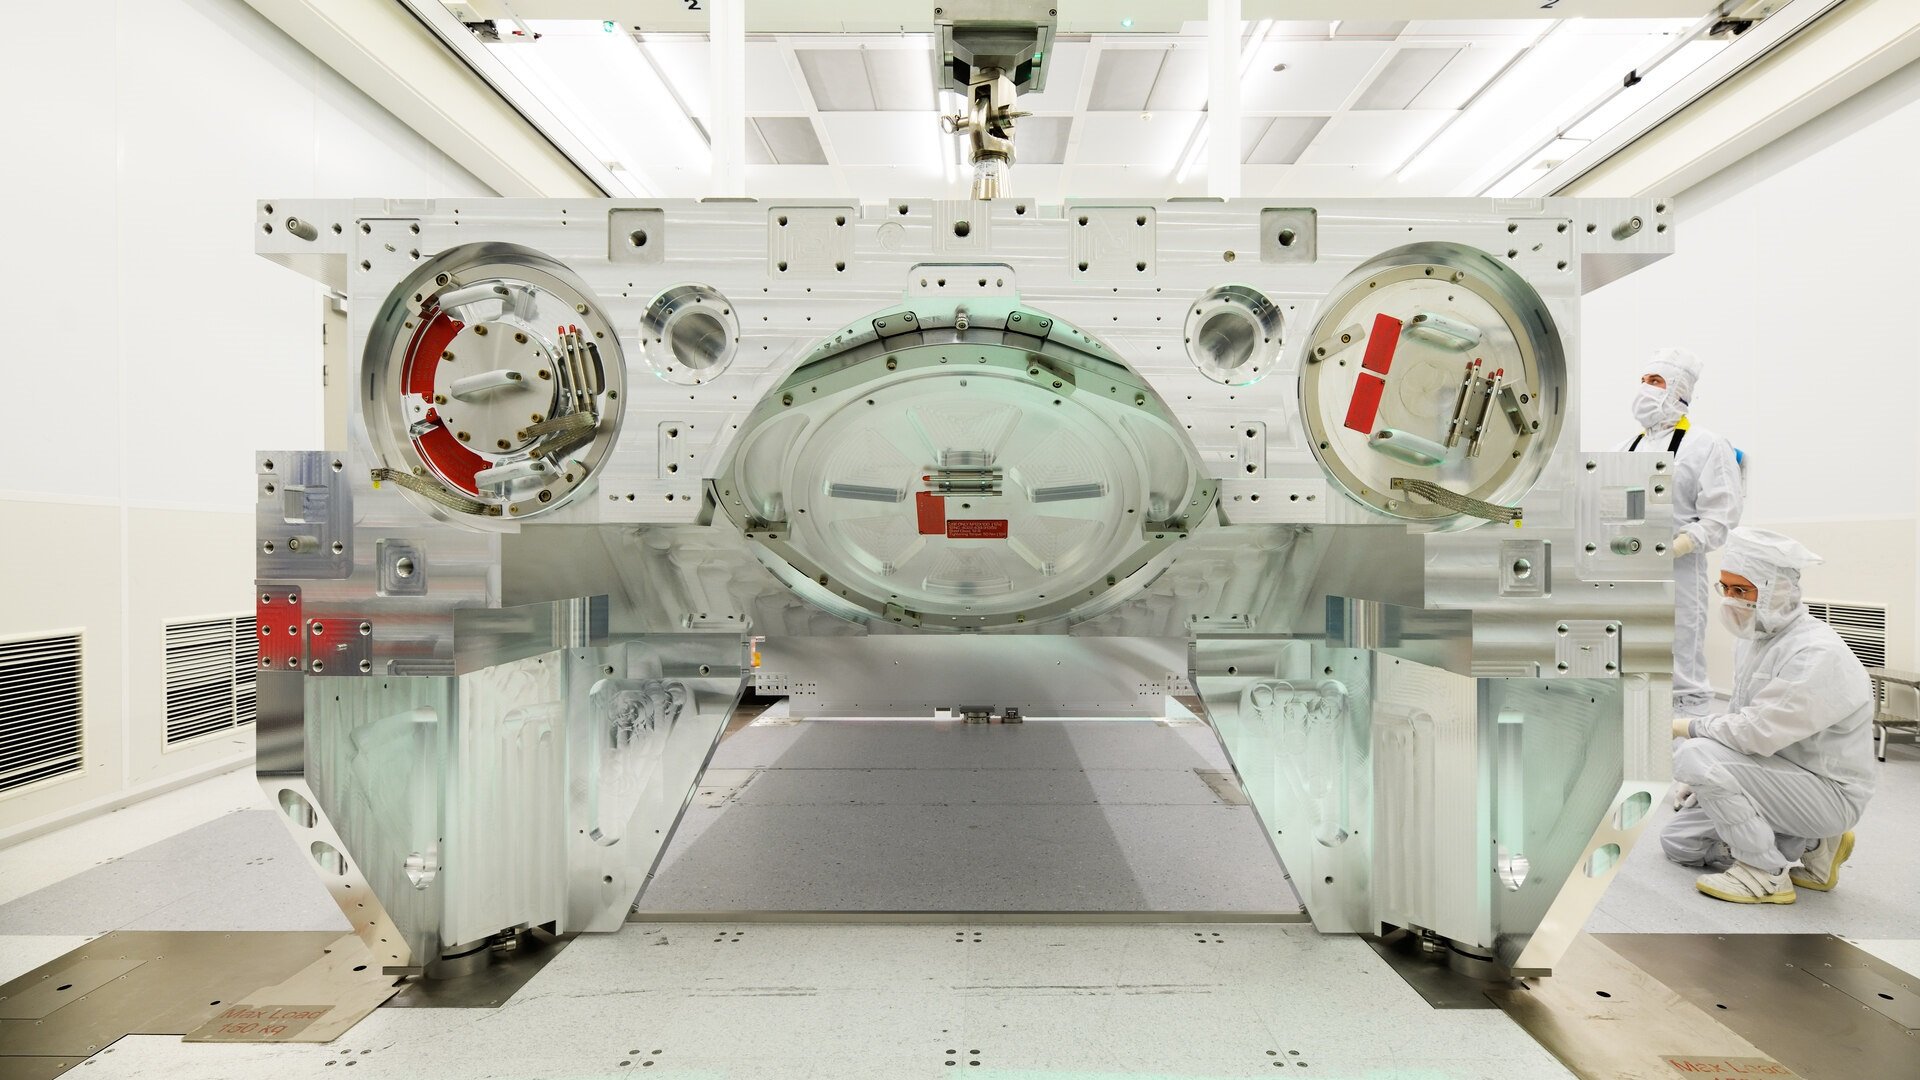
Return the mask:
[[(351, 396), (346, 442), (255, 461), (259, 776), (394, 970), (616, 930), (749, 684), (799, 715), (1192, 694), (1321, 930), (1519, 974), (1665, 788), (1670, 461), (1578, 450), (1580, 296), (1670, 252), (1663, 202), (269, 200), (255, 227), (344, 296)], [(1432, 357), (1457, 396), (1415, 394)], [(1087, 598), (968, 625), (735, 502), (787, 467), (755, 446), (814, 452), (780, 413), (958, 392), (947, 359), (1171, 448), (1140, 467), (1171, 459), (1187, 507), (1129, 525)], [(856, 498), (1014, 502), (952, 454)]]

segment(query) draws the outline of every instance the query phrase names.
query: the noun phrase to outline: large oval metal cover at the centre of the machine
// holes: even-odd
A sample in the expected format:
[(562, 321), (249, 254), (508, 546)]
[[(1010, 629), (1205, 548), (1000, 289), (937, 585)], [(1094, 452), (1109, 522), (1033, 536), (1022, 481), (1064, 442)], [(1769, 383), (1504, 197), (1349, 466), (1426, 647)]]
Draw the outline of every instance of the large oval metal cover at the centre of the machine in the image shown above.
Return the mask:
[(1104, 346), (1012, 304), (941, 302), (822, 346), (741, 423), (714, 482), (803, 598), (950, 630), (1119, 603), (1213, 492), (1183, 425)]

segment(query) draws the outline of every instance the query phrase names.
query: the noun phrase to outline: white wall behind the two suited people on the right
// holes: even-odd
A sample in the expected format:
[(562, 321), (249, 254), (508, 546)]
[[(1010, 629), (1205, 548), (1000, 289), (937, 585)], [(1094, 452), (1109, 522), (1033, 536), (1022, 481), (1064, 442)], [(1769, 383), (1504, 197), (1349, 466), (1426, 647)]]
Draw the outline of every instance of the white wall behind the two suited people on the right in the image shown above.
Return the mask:
[[(1920, 667), (1920, 67), (1674, 200), (1676, 254), (1588, 296), (1592, 448), (1634, 430), (1649, 350), (1707, 361), (1693, 417), (1749, 454), (1747, 525), (1826, 555), (1809, 596), (1889, 609), (1889, 663)], [(1709, 636), (1715, 684), (1732, 638)]]

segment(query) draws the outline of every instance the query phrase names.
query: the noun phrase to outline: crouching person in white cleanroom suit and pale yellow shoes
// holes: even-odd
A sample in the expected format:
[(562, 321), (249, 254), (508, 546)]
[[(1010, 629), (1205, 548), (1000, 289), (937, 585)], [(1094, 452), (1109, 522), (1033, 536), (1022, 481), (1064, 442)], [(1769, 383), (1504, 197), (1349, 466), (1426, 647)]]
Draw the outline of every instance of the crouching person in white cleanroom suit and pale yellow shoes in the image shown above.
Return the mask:
[(1695, 886), (1716, 899), (1832, 890), (1874, 794), (1866, 669), (1801, 603), (1801, 569), (1818, 561), (1763, 528), (1736, 528), (1720, 557), (1720, 623), (1741, 638), (1732, 709), (1674, 717), (1680, 813), (1661, 834), (1668, 859), (1715, 871)]

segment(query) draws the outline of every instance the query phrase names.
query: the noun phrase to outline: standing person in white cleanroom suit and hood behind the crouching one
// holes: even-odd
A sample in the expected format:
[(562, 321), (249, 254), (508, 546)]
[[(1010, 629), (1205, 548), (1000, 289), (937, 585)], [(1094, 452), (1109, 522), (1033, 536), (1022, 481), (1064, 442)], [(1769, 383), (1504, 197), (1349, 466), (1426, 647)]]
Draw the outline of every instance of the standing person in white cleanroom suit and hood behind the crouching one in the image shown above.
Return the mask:
[(1615, 446), (1674, 455), (1674, 711), (1705, 715), (1707, 684), (1707, 552), (1726, 544), (1740, 525), (1740, 461), (1734, 444), (1693, 427), (1686, 409), (1699, 382), (1699, 357), (1688, 350), (1655, 350), (1640, 377), (1634, 421), (1642, 432)]

